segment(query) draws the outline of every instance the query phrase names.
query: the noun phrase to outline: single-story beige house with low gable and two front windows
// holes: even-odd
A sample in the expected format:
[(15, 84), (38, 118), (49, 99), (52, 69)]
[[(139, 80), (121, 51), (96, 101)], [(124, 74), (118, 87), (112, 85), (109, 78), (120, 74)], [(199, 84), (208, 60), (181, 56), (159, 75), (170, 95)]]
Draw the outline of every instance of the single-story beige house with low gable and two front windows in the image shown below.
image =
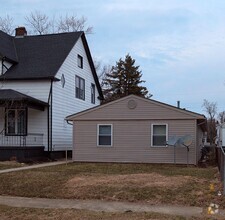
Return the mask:
[[(74, 161), (197, 164), (206, 131), (204, 115), (134, 95), (66, 119), (73, 122)], [(166, 145), (185, 135), (189, 152)]]

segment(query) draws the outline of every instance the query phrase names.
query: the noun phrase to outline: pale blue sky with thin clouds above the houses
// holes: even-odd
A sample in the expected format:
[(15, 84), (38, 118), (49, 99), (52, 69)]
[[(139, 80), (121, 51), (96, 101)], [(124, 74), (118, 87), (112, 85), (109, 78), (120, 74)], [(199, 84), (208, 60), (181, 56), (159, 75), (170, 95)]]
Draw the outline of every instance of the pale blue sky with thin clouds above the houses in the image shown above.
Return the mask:
[(115, 65), (129, 53), (152, 99), (201, 114), (207, 99), (225, 111), (224, 0), (7, 0), (0, 17), (26, 26), (35, 10), (86, 17), (93, 59)]

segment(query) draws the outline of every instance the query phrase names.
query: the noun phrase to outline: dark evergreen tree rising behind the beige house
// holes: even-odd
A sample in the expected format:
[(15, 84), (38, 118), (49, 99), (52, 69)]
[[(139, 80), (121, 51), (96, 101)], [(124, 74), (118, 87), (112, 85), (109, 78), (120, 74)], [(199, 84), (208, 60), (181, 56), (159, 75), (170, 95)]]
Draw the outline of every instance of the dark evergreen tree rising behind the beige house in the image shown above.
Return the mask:
[(147, 97), (148, 90), (141, 86), (142, 74), (139, 66), (135, 66), (135, 60), (127, 54), (125, 60), (122, 58), (116, 62), (109, 73), (105, 74), (103, 80), (103, 93), (105, 102), (109, 102), (130, 94)]

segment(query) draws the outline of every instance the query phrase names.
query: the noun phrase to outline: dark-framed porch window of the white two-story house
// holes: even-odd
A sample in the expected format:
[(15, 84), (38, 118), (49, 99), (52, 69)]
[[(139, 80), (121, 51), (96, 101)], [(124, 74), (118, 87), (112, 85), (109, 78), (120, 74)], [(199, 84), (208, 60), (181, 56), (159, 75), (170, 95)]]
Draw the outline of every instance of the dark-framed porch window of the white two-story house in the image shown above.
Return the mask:
[(6, 135), (27, 135), (26, 109), (6, 109)]

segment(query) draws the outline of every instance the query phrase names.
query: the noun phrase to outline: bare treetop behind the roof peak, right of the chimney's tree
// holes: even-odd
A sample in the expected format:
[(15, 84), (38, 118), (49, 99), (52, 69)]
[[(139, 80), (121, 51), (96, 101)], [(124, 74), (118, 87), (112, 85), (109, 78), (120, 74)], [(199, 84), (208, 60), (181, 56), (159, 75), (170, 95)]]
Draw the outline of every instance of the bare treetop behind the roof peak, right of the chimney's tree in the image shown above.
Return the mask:
[(57, 27), (58, 32), (84, 31), (87, 34), (92, 33), (93, 27), (86, 27), (87, 19), (85, 17), (77, 18), (76, 16), (60, 17)]

